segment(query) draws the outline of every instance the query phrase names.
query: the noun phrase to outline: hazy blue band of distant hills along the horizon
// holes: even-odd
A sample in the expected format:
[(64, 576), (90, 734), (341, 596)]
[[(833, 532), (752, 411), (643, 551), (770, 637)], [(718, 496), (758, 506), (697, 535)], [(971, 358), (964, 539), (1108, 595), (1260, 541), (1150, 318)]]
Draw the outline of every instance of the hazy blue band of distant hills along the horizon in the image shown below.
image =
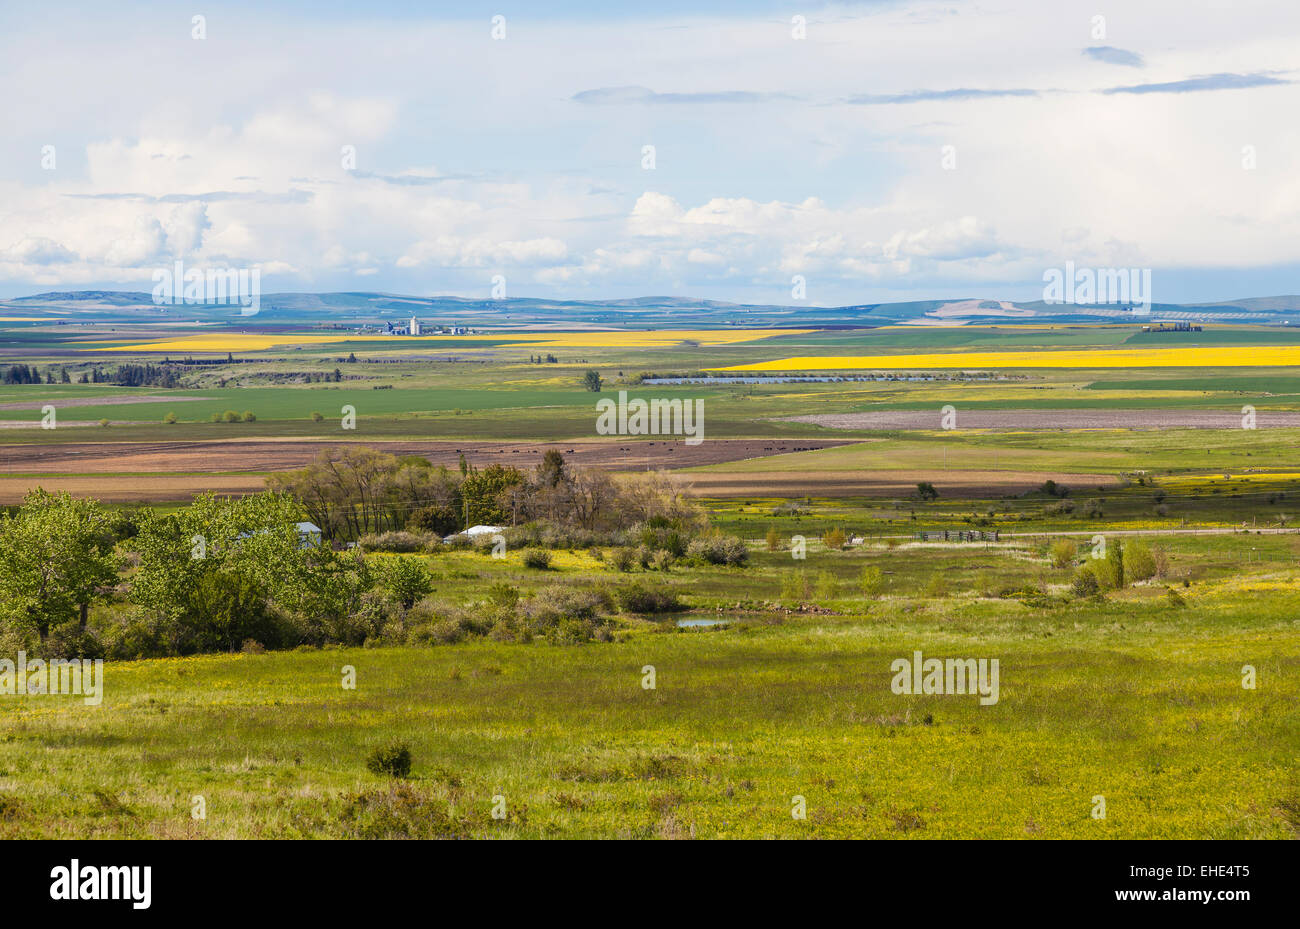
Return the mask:
[[(250, 317), (238, 307), (188, 304), (156, 307), (140, 291), (58, 291), (0, 300), (0, 309), (23, 316), (78, 321), (147, 320), (237, 320)], [(0, 313), (4, 314), (4, 313)], [(1196, 304), (1153, 304), (1149, 317), (1128, 307), (1048, 304), (1041, 300), (1015, 303), (967, 298), (959, 300), (913, 300), (866, 303), (852, 307), (737, 304), (684, 296), (637, 296), (614, 300), (547, 300), (514, 298), (480, 300), (460, 296), (412, 296), (404, 294), (264, 294), (259, 321), (337, 322), (341, 325), (399, 321), (417, 316), (426, 325), (464, 326), (880, 326), (1027, 324), (1027, 322), (1138, 322), (1148, 318), (1300, 325), (1300, 296), (1253, 296), (1240, 300)]]

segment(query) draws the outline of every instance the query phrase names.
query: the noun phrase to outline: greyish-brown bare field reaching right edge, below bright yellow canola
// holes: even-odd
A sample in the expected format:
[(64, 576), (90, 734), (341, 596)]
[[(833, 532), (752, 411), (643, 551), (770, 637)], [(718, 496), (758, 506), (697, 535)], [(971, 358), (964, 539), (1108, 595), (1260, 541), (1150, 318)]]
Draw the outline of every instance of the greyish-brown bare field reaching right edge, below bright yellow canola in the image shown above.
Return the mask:
[[(936, 409), (792, 416), (828, 429), (941, 429)], [(1300, 426), (1300, 413), (1260, 411), (1260, 429)], [(957, 411), (957, 429), (1240, 429), (1238, 409), (971, 409)]]

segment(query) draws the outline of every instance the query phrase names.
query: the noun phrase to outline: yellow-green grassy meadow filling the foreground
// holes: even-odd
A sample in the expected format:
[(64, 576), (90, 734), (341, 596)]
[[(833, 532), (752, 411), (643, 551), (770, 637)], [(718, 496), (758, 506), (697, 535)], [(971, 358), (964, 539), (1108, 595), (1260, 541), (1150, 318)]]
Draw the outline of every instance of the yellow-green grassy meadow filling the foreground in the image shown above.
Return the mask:
[[(0, 702), (0, 835), (1294, 838), (1300, 579), (1295, 537), (1264, 538), (1249, 570), (1256, 537), (1173, 539), (1184, 607), (1158, 585), (1046, 607), (976, 596), (1061, 589), (1069, 572), (1036, 543), (814, 544), (806, 563), (755, 552), (745, 569), (651, 577), (731, 617), (722, 629), (109, 664), (99, 707)], [(494, 579), (628, 579), (562, 563), (430, 559), (437, 595), (458, 602)], [(883, 599), (855, 592), (864, 564), (883, 568)], [(835, 612), (759, 603), (794, 570), (836, 578)], [(922, 595), (936, 573), (946, 594)], [(889, 665), (915, 650), (997, 657), (998, 703), (893, 694)], [(365, 768), (393, 742), (415, 759), (400, 786)]]

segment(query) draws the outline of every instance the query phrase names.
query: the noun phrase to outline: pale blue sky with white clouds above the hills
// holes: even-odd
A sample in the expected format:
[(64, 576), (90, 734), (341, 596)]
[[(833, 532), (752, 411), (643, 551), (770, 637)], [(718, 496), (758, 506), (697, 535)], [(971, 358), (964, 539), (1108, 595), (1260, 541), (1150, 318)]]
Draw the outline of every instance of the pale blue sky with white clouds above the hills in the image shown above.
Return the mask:
[(1294, 3), (53, 0), (0, 91), (0, 296), (1300, 292)]

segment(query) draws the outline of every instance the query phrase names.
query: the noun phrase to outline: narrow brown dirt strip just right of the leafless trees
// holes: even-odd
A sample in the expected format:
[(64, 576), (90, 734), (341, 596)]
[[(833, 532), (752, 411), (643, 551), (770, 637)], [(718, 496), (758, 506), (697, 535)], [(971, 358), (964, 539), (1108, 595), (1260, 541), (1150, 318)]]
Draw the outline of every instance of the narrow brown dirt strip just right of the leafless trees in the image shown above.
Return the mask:
[(1114, 474), (1039, 470), (692, 472), (682, 477), (698, 496), (909, 496), (919, 481), (930, 481), (941, 496), (974, 499), (1023, 494), (1048, 479), (1071, 487), (1118, 486)]

